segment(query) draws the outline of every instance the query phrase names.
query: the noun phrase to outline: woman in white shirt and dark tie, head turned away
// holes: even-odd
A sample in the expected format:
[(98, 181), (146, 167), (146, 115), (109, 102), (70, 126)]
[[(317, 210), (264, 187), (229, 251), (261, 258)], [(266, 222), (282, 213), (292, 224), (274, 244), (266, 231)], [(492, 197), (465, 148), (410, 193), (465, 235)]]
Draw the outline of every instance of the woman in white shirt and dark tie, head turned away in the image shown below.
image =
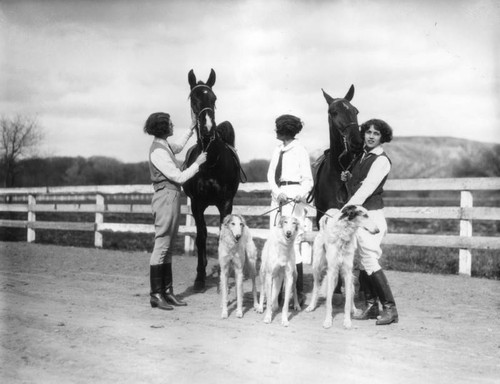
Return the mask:
[[(302, 130), (302, 121), (293, 115), (282, 115), (276, 119), (276, 138), (281, 143), (276, 147), (269, 163), (267, 181), (271, 187), (270, 225), (277, 223), (278, 215), (294, 216), (301, 226), (306, 217), (304, 204), (313, 186), (309, 154), (295, 136)], [(280, 161), (281, 157), (281, 161)], [(293, 201), (290, 201), (293, 200)], [(280, 209), (277, 209), (281, 207)], [(305, 300), (303, 293), (303, 266), (299, 245), (302, 241), (303, 229), (299, 232), (295, 246), (295, 262), (297, 265), (297, 293), (302, 306)]]

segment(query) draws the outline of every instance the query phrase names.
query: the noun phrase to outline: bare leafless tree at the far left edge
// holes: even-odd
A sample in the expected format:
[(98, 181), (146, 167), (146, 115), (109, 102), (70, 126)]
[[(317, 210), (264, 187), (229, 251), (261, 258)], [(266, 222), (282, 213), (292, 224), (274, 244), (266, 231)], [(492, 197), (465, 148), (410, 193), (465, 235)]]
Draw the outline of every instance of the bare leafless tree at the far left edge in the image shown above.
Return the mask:
[(43, 139), (43, 131), (37, 119), (17, 115), (0, 118), (0, 165), (3, 168), (3, 186), (14, 186), (19, 171), (19, 161), (34, 156)]

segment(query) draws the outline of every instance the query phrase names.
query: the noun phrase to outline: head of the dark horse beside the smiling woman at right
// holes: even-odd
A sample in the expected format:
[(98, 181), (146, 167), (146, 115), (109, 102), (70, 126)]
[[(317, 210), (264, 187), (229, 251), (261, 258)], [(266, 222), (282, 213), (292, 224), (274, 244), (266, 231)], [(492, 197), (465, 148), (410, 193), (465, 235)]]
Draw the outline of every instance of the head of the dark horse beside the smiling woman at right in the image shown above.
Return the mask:
[(344, 98), (333, 98), (323, 89), (323, 96), (328, 104), (328, 123), (332, 140), (340, 142), (340, 137), (347, 144), (349, 152), (359, 152), (363, 148), (363, 140), (359, 132), (358, 109), (351, 104), (354, 96), (354, 85), (351, 85)]

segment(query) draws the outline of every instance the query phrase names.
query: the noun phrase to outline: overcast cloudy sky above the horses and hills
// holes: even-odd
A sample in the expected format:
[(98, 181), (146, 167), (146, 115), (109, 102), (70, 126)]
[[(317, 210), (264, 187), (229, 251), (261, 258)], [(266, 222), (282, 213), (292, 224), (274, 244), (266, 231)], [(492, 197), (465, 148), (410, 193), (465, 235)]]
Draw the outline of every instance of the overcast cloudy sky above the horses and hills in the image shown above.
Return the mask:
[(187, 74), (217, 73), (216, 121), (242, 161), (299, 116), (310, 153), (327, 105), (356, 87), (359, 122), (395, 136), (500, 143), (500, 2), (0, 0), (0, 114), (36, 116), (46, 156), (147, 160), (152, 112), (190, 122)]

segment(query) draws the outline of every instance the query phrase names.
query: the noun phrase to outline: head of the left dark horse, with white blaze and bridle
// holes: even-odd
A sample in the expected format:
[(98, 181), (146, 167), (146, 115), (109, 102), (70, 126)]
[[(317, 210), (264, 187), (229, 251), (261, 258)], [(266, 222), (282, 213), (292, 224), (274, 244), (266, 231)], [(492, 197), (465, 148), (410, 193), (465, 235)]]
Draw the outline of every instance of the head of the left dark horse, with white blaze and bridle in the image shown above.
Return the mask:
[(197, 134), (200, 140), (209, 134), (212, 127), (215, 127), (215, 96), (212, 90), (215, 84), (215, 71), (210, 71), (210, 76), (206, 83), (196, 81), (196, 76), (191, 69), (188, 74), (188, 81), (191, 87), (189, 98), (191, 99), (191, 111), (197, 119)]

